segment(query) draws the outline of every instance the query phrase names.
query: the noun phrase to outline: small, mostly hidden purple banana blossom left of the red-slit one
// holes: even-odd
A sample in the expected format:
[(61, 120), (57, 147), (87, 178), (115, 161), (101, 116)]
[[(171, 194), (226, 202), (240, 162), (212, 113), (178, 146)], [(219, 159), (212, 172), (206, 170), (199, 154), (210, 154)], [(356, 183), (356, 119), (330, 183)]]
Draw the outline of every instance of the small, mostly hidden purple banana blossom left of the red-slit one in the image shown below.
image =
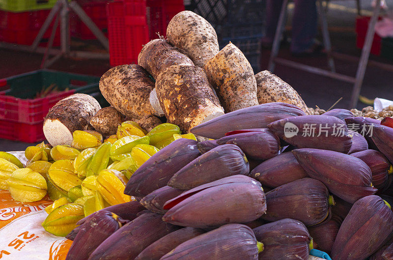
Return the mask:
[(163, 209), (165, 202), (179, 196), (182, 192), (184, 191), (164, 186), (143, 197), (140, 200), (140, 204), (155, 213), (165, 214), (167, 212), (167, 210)]

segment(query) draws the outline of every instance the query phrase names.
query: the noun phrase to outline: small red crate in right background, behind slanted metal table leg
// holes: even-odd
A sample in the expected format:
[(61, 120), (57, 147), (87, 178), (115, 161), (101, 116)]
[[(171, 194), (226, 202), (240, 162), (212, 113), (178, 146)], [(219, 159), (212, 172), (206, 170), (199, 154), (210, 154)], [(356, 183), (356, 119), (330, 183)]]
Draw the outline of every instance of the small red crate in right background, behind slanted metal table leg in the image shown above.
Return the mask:
[[(358, 16), (356, 17), (356, 47), (362, 49), (365, 45), (365, 36), (367, 34), (368, 23), (370, 22), (371, 17), (369, 16)], [(379, 17), (378, 20), (382, 18)], [(371, 45), (370, 53), (376, 56), (380, 56), (381, 54), (381, 46), (382, 46), (382, 38), (378, 34), (374, 34), (374, 39)]]

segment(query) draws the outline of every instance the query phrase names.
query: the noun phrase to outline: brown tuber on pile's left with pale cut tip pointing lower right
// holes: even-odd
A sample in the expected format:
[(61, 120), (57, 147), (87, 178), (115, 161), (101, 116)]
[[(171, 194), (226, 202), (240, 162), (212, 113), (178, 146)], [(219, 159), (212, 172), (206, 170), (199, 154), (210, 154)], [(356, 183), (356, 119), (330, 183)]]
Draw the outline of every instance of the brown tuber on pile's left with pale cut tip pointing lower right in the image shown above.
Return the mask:
[(108, 70), (100, 80), (105, 99), (120, 113), (131, 118), (163, 116), (154, 81), (140, 65), (120, 65)]

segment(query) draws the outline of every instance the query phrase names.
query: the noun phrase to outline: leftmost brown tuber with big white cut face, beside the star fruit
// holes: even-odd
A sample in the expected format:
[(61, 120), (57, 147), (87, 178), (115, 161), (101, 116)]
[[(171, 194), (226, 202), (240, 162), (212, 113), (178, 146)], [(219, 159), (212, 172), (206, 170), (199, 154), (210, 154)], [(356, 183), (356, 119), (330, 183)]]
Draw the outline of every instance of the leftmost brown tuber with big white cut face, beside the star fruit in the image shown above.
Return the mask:
[(44, 119), (45, 138), (52, 146), (71, 145), (72, 133), (88, 130), (91, 117), (100, 109), (98, 101), (86, 94), (73, 94), (60, 100)]

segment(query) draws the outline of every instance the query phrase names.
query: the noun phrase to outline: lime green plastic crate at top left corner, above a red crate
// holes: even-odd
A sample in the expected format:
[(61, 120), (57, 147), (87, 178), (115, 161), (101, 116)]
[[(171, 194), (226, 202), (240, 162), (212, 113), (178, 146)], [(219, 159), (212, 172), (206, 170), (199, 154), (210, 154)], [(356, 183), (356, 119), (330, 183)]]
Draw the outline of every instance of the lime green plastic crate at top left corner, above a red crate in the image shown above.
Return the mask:
[(10, 12), (51, 9), (57, 0), (0, 0), (0, 9)]

